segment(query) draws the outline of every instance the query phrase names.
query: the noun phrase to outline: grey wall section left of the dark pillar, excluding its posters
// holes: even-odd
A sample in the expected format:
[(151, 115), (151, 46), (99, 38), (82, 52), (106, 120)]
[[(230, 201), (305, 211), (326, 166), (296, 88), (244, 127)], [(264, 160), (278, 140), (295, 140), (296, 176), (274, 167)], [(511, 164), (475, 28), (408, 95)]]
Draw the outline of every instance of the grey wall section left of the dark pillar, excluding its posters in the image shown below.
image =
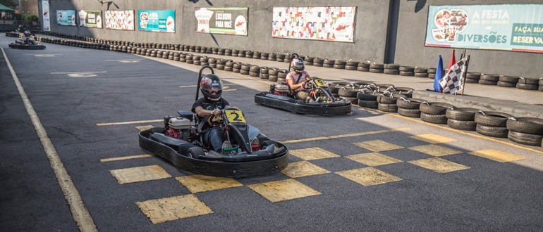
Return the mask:
[[(50, 0), (51, 32), (73, 34), (98, 39), (133, 41), (141, 43), (184, 44), (194, 46), (240, 49), (269, 53), (298, 53), (301, 56), (314, 56), (328, 59), (350, 58), (353, 60), (374, 60), (382, 62), (386, 41), (389, 1), (310, 1), (307, 4), (292, 1), (171, 1), (152, 0), (113, 1), (114, 4), (101, 4), (89, 0)], [(209, 5), (209, 3), (212, 4)], [(41, 4), (39, 4), (41, 6)], [(300, 39), (279, 39), (271, 37), (271, 14), (279, 6), (355, 6), (355, 42), (333, 42)], [(194, 11), (196, 7), (248, 7), (248, 36), (226, 34), (196, 33)], [(136, 24), (135, 31), (109, 30), (89, 27), (56, 25), (56, 10), (134, 10), (138, 9), (174, 9), (176, 10), (176, 32), (140, 32)], [(385, 10), (383, 10), (385, 9)], [(40, 9), (41, 12), (41, 9)], [(40, 14), (42, 15), (42, 14)], [(40, 19), (41, 20), (41, 19)], [(136, 17), (136, 23), (138, 22)]]

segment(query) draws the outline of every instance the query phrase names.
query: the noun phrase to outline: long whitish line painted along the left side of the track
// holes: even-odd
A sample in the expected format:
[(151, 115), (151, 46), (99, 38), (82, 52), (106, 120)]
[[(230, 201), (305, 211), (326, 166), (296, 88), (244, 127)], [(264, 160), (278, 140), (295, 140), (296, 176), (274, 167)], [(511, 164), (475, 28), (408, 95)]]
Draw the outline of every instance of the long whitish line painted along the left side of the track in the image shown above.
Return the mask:
[(32, 106), (32, 103), (30, 103), (30, 99), (28, 99), (25, 89), (23, 89), (23, 85), (20, 84), (19, 78), (17, 77), (15, 70), (13, 70), (4, 48), (0, 49), (2, 50), (2, 54), (4, 54), (9, 71), (13, 77), (13, 82), (15, 82), (19, 91), (20, 98), (23, 98), (23, 103), (25, 104), (26, 111), (28, 112), (28, 116), (30, 116), (32, 124), (36, 129), (37, 136), (42, 142), (45, 154), (47, 155), (47, 158), (49, 158), (49, 164), (51, 165), (51, 168), (53, 168), (56, 179), (59, 181), (59, 185), (64, 193), (64, 198), (66, 198), (68, 205), (70, 205), (73, 219), (78, 224), (80, 231), (98, 231), (92, 217), (90, 217), (87, 207), (85, 207), (85, 203), (83, 203), (83, 199), (81, 199), (81, 195), (79, 195), (78, 189), (75, 188), (68, 171), (64, 168), (59, 154), (56, 153), (56, 148), (53, 146), (49, 136), (47, 136), (47, 131), (45, 131), (39, 117), (37, 117), (34, 107)]

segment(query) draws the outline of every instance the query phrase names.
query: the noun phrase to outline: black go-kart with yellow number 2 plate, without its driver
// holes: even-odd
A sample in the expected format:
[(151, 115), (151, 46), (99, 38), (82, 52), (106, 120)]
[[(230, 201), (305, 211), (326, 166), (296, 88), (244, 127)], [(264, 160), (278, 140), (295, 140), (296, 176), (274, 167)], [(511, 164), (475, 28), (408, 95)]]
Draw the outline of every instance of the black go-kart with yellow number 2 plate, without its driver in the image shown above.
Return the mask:
[[(202, 79), (200, 70), (198, 82)], [(200, 85), (197, 84), (196, 100)], [(208, 117), (198, 120), (189, 110), (178, 110), (178, 117), (164, 117), (164, 127), (154, 127), (139, 133), (140, 147), (168, 160), (176, 167), (208, 176), (255, 176), (280, 172), (288, 165), (288, 148), (272, 141), (258, 131), (257, 139), (249, 136), (249, 125), (241, 110), (221, 110), (220, 128), (225, 132), (231, 148), (221, 153), (202, 141)], [(256, 142), (257, 143), (256, 143)]]

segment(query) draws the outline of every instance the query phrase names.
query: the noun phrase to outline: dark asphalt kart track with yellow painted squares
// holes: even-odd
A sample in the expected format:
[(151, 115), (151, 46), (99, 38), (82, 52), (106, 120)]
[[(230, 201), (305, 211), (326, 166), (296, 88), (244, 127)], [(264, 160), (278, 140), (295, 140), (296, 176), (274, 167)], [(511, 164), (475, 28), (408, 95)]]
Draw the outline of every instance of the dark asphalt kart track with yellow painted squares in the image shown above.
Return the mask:
[(290, 165), (235, 180), (194, 176), (147, 155), (137, 134), (190, 108), (199, 67), (56, 44), (9, 49), (11, 40), (0, 37), (1, 231), (543, 226), (541, 147), (356, 107), (341, 117), (266, 108), (253, 96), (271, 82), (216, 70), (224, 97), (288, 146)]

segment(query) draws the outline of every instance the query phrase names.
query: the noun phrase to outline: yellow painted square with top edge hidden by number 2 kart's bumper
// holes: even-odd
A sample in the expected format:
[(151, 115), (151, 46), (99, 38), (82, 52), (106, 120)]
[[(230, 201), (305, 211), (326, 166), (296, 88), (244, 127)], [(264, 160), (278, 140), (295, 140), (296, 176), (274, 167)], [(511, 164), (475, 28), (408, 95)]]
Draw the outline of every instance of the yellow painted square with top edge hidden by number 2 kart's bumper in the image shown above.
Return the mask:
[(191, 193), (243, 186), (235, 179), (204, 175), (179, 176), (176, 180), (187, 187)]

